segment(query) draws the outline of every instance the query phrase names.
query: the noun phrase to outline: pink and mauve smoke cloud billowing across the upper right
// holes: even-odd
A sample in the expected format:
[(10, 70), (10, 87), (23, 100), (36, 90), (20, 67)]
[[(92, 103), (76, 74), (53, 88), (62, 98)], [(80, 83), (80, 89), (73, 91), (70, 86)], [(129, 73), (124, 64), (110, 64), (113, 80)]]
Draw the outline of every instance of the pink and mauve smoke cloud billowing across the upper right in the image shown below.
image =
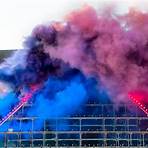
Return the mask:
[[(130, 91), (148, 91), (147, 24), (148, 13), (104, 15), (85, 6), (68, 14), (65, 23), (38, 26), (33, 36), (40, 37), (42, 49), (51, 57), (95, 76), (118, 104), (129, 101)], [(53, 29), (56, 43), (51, 45), (48, 34)]]

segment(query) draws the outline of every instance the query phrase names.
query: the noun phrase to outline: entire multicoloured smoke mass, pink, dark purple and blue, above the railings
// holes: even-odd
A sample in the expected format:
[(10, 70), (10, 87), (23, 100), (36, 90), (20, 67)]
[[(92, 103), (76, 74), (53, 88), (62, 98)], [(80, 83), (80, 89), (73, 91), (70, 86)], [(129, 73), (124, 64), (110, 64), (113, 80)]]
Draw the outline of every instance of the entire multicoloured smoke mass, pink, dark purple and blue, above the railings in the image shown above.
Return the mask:
[[(0, 80), (16, 97), (42, 84), (32, 96), (35, 105), (26, 111), (28, 116), (71, 115), (90, 98), (101, 102), (104, 90), (103, 99), (118, 107), (129, 102), (129, 92), (148, 91), (147, 23), (148, 14), (138, 10), (118, 16), (85, 6), (68, 14), (64, 23), (35, 27), (24, 50), (0, 65)], [(14, 103), (10, 96), (6, 100), (8, 106)], [(28, 130), (29, 123), (25, 126)]]

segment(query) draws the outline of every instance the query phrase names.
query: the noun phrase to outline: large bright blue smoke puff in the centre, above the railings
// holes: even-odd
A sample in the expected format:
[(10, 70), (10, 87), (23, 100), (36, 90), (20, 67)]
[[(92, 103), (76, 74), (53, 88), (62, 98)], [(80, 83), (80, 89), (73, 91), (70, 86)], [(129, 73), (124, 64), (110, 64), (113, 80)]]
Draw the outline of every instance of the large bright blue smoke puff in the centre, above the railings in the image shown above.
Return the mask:
[[(42, 128), (44, 119), (73, 114), (87, 100), (85, 81), (81, 75), (71, 79), (49, 78), (34, 97), (34, 106), (27, 116), (40, 117), (35, 121), (36, 130)], [(64, 123), (65, 124), (65, 123)], [(60, 129), (63, 123), (57, 128)], [(68, 126), (67, 126), (68, 127)]]

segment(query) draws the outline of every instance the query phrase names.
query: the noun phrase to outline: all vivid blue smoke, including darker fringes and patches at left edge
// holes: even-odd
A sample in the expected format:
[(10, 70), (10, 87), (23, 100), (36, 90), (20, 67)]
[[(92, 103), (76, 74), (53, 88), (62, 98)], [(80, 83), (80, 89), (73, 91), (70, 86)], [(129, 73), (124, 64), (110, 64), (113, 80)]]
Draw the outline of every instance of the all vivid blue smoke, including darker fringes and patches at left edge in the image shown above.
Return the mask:
[[(39, 118), (34, 120), (34, 127), (32, 127), (31, 120), (22, 122), (21, 127), (20, 121), (15, 120), (10, 121), (9, 124), (6, 122), (0, 127), (0, 131), (8, 131), (9, 128), (13, 128), (14, 131), (42, 130), (44, 120), (71, 116), (90, 98), (99, 99), (101, 94), (102, 91), (99, 93), (97, 81), (94, 78), (86, 78), (77, 69), (66, 71), (62, 77), (50, 76), (33, 95), (32, 101), (34, 105), (28, 108), (23, 115), (24, 117)], [(7, 112), (10, 111), (8, 105), (15, 104), (18, 101), (14, 93), (10, 93), (8, 96), (5, 98), (6, 106), (2, 105), (3, 108), (1, 108), (2, 110), (6, 108)], [(67, 123), (59, 123), (58, 127), (53, 127), (54, 130), (68, 128), (70, 128), (68, 121)]]

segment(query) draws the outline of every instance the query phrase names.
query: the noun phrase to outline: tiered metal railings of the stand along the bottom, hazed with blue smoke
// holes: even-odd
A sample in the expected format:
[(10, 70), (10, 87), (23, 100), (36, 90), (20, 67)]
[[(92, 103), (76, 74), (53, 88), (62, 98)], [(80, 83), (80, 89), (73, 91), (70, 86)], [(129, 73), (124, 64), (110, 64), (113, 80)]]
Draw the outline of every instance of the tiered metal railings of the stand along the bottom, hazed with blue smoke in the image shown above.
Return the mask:
[[(40, 119), (25, 114), (33, 105), (30, 100), (9, 118), (8, 131), (0, 132), (0, 147), (148, 147), (148, 117), (135, 104), (116, 109), (110, 102), (90, 99), (71, 116), (44, 120), (41, 130), (34, 129)], [(17, 130), (12, 128), (15, 121)], [(23, 129), (26, 122), (31, 123), (29, 131)]]

